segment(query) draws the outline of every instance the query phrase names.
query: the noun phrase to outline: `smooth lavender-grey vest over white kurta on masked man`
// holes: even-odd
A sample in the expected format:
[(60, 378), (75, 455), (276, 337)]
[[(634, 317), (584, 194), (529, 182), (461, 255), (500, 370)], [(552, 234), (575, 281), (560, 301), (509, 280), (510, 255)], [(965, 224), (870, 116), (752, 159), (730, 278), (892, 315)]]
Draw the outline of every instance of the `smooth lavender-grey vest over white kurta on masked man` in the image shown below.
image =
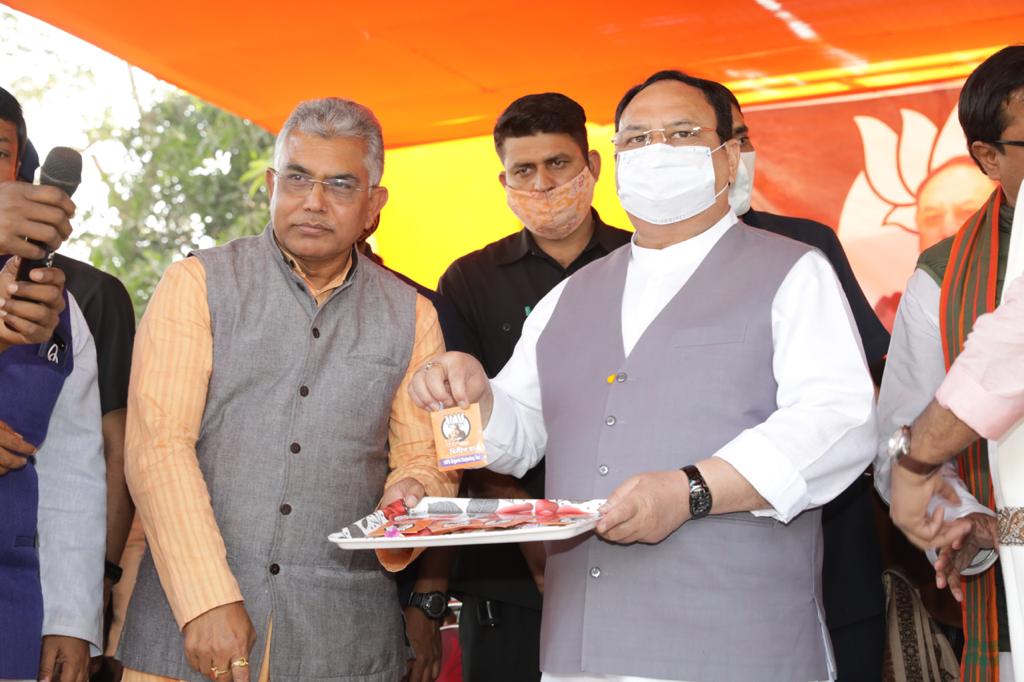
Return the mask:
[[(537, 346), (546, 495), (606, 498), (632, 475), (702, 460), (764, 422), (777, 409), (772, 300), (807, 251), (734, 225), (629, 356), (620, 311), (630, 249), (574, 274)], [(820, 570), (817, 510), (788, 524), (709, 516), (656, 545), (553, 543), (542, 669), (828, 679)]]

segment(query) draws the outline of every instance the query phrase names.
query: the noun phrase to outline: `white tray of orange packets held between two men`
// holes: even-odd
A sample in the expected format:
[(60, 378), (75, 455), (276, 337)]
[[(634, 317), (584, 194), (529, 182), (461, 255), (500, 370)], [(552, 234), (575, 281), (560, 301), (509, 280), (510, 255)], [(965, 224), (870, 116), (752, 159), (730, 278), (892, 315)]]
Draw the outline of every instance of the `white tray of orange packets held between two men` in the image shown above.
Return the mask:
[[(410, 518), (438, 519), (451, 518), (453, 514), (501, 513), (501, 509), (513, 505), (536, 503), (537, 500), (480, 500), (472, 498), (424, 498), (416, 507), (409, 511)], [(412, 547), (451, 547), (460, 545), (497, 545), (501, 543), (528, 543), (550, 540), (567, 540), (589, 532), (597, 525), (597, 510), (604, 500), (554, 500), (561, 505), (570, 505), (588, 513), (586, 516), (566, 516), (571, 518), (565, 525), (527, 525), (515, 528), (494, 530), (460, 530), (438, 536), (413, 536), (393, 538), (367, 537), (382, 525), (388, 524), (383, 512), (377, 511), (358, 521), (349, 524), (344, 529), (328, 537), (332, 543), (342, 549), (403, 549)], [(439, 513), (437, 510), (443, 510)]]

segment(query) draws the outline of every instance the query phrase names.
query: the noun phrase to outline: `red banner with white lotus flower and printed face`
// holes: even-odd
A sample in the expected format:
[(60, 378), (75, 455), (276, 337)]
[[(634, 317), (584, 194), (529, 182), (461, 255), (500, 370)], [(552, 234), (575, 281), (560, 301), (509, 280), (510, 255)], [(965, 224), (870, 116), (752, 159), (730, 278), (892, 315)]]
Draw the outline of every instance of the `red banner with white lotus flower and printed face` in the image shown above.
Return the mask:
[(955, 233), (995, 187), (968, 155), (959, 85), (745, 112), (758, 142), (754, 208), (837, 229), (890, 330), (919, 254)]

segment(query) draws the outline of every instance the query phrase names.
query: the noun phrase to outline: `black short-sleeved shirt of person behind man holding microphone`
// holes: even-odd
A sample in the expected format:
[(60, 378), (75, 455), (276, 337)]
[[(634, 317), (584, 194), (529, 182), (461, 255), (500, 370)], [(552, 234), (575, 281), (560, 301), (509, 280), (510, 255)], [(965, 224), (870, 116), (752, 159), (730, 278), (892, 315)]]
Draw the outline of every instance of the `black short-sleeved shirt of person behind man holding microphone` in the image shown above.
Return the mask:
[(102, 414), (128, 407), (128, 375), (135, 341), (135, 310), (128, 291), (113, 274), (56, 254), (66, 287), (75, 297), (96, 343), (99, 404)]

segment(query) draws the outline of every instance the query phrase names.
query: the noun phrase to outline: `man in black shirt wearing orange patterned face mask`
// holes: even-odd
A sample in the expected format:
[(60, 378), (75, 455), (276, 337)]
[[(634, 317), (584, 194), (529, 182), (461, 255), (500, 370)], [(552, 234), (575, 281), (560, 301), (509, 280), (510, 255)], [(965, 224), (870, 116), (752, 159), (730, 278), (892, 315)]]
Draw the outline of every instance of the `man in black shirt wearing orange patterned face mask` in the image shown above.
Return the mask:
[[(488, 377), (515, 348), (534, 307), (584, 265), (629, 243), (630, 233), (606, 225), (593, 208), (601, 158), (590, 150), (583, 108), (563, 94), (530, 94), (513, 101), (495, 124), (495, 148), (504, 171), (518, 232), (455, 261), (437, 285), (465, 321), (471, 352)], [(543, 463), (522, 480), (489, 471), (467, 472), (474, 497), (540, 498)], [(459, 634), (463, 677), (472, 682), (529, 682), (538, 664), (544, 548), (540, 543), (464, 548), (450, 589), (463, 597)]]

